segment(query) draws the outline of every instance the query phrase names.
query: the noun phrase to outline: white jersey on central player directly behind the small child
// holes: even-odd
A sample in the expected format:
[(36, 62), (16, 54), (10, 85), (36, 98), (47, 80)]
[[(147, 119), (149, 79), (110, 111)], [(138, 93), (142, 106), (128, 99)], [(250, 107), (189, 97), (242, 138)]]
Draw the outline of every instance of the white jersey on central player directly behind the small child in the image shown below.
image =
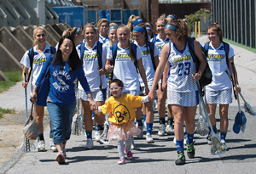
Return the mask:
[[(112, 48), (113, 47), (110, 47), (108, 49), (107, 59), (113, 59)], [(141, 59), (142, 57), (142, 50), (137, 48), (137, 60)], [(123, 92), (140, 90), (137, 70), (135, 68), (134, 62), (131, 61), (129, 48), (119, 48), (119, 43), (117, 46), (117, 53), (113, 67), (113, 79), (119, 79), (123, 81)]]

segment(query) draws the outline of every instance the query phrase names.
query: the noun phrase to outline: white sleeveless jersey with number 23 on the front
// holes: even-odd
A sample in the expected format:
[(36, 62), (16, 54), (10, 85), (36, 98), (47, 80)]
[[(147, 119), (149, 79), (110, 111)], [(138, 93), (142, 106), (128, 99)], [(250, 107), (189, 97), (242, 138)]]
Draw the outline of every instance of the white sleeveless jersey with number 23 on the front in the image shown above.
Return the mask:
[(167, 90), (179, 93), (193, 92), (197, 90), (196, 83), (192, 77), (196, 72), (195, 63), (189, 53), (188, 42), (182, 51), (171, 43), (171, 52), (168, 57), (170, 64), (170, 76), (167, 81)]

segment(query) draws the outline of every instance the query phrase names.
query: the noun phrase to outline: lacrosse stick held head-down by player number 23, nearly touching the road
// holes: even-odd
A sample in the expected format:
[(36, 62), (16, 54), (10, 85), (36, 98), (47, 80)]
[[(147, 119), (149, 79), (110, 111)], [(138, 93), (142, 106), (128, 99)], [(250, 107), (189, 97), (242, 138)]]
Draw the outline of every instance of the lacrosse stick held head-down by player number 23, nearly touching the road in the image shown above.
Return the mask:
[(198, 93), (199, 93), (199, 96), (200, 96), (202, 108), (204, 109), (204, 112), (205, 112), (205, 115), (206, 115), (208, 126), (211, 129), (211, 131), (210, 131), (210, 136), (211, 136), (211, 139), (212, 139), (211, 154), (213, 154), (213, 155), (224, 154), (227, 150), (227, 147), (224, 145), (224, 143), (221, 143), (221, 141), (218, 138), (218, 135), (216, 135), (216, 133), (213, 132), (212, 123), (210, 121), (209, 115), (207, 113), (206, 105), (205, 105), (204, 100), (203, 100), (202, 95), (201, 95), (201, 88), (200, 88), (200, 85), (199, 85), (199, 81), (196, 81), (196, 86), (198, 88)]

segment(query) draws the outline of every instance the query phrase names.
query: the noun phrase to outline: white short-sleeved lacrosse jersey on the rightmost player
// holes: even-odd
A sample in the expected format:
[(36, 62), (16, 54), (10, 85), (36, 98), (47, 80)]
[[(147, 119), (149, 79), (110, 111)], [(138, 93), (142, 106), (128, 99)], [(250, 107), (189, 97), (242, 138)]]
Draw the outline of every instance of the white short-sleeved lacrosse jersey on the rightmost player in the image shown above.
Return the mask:
[[(234, 49), (230, 46), (229, 59), (235, 56)], [(226, 62), (226, 54), (224, 43), (222, 42), (218, 48), (213, 48), (212, 43), (209, 43), (207, 61), (212, 70), (212, 82), (206, 86), (206, 89), (212, 91), (220, 91), (232, 88), (232, 83), (229, 76), (224, 71), (227, 69), (230, 73)]]

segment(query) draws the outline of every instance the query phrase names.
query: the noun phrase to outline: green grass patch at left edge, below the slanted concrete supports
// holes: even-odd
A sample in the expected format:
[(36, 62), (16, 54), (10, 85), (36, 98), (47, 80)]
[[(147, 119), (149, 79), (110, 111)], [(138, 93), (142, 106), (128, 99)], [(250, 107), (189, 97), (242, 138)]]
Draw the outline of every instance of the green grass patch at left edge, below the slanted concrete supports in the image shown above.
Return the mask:
[(16, 82), (22, 81), (22, 71), (4, 72), (3, 74), (9, 78), (9, 81), (0, 81), (0, 93), (8, 90), (9, 87), (15, 86)]

